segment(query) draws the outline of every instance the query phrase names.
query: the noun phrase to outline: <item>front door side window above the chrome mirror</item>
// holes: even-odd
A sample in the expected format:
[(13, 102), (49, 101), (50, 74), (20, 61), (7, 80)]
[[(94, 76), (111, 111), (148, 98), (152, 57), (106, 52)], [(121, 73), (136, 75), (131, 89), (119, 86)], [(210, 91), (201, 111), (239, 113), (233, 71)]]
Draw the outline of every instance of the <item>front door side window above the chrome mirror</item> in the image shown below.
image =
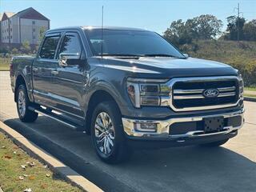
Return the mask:
[(68, 54), (81, 54), (81, 45), (76, 34), (66, 35), (63, 42), (62, 47), (60, 49), (60, 54), (68, 53)]

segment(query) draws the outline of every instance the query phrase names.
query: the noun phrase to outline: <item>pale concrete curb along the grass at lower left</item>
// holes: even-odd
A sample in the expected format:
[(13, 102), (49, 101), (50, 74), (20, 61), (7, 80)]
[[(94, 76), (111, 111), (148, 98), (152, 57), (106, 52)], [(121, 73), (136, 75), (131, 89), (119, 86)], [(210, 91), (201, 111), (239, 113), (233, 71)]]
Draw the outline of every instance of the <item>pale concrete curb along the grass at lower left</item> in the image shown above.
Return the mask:
[[(58, 161), (58, 159), (48, 154), (45, 150), (42, 150), (33, 142), (30, 142), (24, 138), (22, 134), (19, 134), (9, 126), (6, 126), (6, 124), (3, 122), (0, 122), (0, 131), (4, 134), (7, 134), (14, 143), (20, 146), (23, 150), (26, 150), (26, 152), (32, 157), (38, 158), (41, 162), (49, 166), (50, 170), (60, 174), (63, 178), (66, 179), (66, 181), (74, 184), (74, 186), (78, 186), (81, 190), (87, 192), (103, 191), (98, 186), (94, 185), (94, 183), (90, 182), (86, 178), (82, 177), (82, 175), (72, 170), (69, 166), (64, 165), (62, 162)], [(1, 189), (0, 192), (2, 192)]]

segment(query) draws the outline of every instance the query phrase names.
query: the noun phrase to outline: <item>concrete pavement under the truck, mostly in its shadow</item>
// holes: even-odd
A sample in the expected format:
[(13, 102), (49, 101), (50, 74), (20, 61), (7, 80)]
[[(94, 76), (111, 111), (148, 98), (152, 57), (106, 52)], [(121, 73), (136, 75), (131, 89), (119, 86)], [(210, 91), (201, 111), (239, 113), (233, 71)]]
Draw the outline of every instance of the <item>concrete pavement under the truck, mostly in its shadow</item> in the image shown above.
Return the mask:
[(140, 150), (110, 166), (82, 132), (43, 116), (20, 122), (9, 73), (0, 72), (0, 120), (106, 191), (256, 191), (256, 102), (245, 105), (245, 125), (222, 147)]

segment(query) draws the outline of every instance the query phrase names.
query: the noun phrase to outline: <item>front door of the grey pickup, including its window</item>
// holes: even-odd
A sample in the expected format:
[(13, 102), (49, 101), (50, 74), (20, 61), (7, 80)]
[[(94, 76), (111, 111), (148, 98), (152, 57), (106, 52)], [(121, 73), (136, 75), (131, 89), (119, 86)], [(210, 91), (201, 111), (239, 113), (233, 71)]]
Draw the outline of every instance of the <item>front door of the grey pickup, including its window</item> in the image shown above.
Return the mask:
[(54, 94), (58, 96), (58, 110), (84, 118), (82, 102), (88, 79), (85, 50), (78, 33), (68, 32), (64, 35), (59, 54), (78, 54), (79, 60), (72, 66), (57, 65), (57, 74), (54, 76)]

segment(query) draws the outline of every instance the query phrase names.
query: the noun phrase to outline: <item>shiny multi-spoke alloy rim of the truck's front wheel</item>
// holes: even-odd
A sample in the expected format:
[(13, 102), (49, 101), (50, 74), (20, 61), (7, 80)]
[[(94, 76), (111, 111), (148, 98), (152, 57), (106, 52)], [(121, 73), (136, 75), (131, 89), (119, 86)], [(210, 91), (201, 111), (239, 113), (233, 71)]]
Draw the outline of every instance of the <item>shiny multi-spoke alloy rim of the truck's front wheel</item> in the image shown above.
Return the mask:
[(111, 154), (114, 149), (114, 126), (110, 116), (105, 112), (98, 114), (94, 130), (98, 150), (103, 154)]

